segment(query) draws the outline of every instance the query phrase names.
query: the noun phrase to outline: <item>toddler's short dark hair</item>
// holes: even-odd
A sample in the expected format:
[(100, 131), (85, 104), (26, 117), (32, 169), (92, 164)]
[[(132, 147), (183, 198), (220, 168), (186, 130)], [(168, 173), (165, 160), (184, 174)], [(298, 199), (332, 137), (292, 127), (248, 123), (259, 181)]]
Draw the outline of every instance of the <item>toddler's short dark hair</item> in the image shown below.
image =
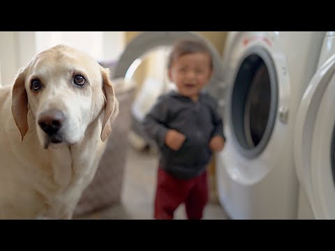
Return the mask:
[[(199, 52), (206, 53), (212, 58), (211, 51), (209, 50), (207, 45), (203, 43), (201, 40), (190, 40), (190, 39), (178, 40), (176, 43), (174, 43), (172, 51), (168, 57), (168, 69), (171, 68), (174, 59), (179, 58), (179, 56)], [(213, 68), (212, 60), (211, 60), (211, 68)]]

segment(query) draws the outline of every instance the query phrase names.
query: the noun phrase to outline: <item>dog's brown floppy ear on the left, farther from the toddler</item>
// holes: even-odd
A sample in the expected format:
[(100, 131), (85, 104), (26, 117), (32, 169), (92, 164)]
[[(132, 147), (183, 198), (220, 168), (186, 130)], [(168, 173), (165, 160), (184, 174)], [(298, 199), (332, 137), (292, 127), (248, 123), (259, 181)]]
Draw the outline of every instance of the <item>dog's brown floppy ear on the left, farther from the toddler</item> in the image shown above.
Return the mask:
[(12, 86), (12, 114), (17, 128), (21, 132), (21, 141), (28, 131), (28, 97), (24, 88), (25, 70), (21, 68)]

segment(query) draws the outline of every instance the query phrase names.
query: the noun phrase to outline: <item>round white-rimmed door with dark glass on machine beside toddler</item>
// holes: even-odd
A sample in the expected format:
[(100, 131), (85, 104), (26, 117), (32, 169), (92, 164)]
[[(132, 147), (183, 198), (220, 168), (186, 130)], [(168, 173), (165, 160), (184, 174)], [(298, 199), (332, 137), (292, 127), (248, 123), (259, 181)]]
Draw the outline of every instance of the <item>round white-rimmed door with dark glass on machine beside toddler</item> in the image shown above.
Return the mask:
[[(253, 38), (253, 36), (251, 37)], [(243, 39), (241, 39), (243, 41)], [(289, 79), (285, 55), (277, 43), (241, 42), (231, 55), (225, 106), (223, 152), (225, 169), (238, 183), (258, 183), (271, 170), (268, 161), (280, 161), (288, 132)], [(238, 60), (237, 60), (238, 59)], [(233, 74), (232, 74), (233, 73)], [(278, 114), (280, 113), (280, 114)]]

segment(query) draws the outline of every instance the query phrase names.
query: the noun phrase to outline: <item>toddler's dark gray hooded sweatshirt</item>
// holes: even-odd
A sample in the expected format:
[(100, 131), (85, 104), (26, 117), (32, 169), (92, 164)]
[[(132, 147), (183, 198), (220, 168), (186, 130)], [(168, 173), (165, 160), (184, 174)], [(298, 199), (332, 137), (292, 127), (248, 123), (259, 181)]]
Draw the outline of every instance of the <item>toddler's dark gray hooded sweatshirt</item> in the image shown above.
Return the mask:
[[(211, 137), (221, 135), (225, 139), (223, 121), (217, 109), (216, 100), (207, 93), (200, 93), (197, 102), (176, 91), (158, 98), (144, 117), (143, 126), (161, 151), (160, 168), (182, 179), (193, 178), (204, 172), (211, 159)], [(169, 129), (186, 136), (184, 144), (177, 151), (164, 142)]]

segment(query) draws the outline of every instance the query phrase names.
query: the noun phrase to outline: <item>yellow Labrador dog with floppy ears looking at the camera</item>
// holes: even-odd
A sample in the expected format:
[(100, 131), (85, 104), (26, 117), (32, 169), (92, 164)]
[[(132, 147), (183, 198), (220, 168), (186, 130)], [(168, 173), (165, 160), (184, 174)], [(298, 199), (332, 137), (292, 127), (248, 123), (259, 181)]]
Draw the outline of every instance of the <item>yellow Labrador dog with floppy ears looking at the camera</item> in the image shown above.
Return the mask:
[(72, 218), (118, 112), (109, 70), (66, 45), (0, 86), (0, 218)]

